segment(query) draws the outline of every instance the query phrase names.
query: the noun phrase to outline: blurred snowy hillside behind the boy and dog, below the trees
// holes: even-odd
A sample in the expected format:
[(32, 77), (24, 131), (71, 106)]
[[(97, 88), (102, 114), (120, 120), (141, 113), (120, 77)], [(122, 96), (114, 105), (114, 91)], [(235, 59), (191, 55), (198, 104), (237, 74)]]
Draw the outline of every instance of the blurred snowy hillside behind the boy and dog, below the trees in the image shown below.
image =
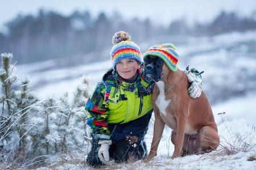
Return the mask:
[[(247, 92), (256, 91), (255, 43), (256, 31), (193, 37), (187, 43), (177, 46), (180, 55), (178, 67), (184, 70), (190, 65), (205, 71), (204, 91), (212, 104), (234, 96), (243, 96)], [(148, 47), (151, 45), (143, 44)], [(48, 94), (72, 92), (79, 85), (82, 75), (88, 76), (92, 91), (105, 71), (112, 66), (108, 51), (105, 56), (105, 61), (81, 62), (79, 66), (68, 68), (59, 68), (59, 61), (54, 60), (20, 65), (16, 74), (20, 77), (29, 76), (32, 89), (44, 97)]]

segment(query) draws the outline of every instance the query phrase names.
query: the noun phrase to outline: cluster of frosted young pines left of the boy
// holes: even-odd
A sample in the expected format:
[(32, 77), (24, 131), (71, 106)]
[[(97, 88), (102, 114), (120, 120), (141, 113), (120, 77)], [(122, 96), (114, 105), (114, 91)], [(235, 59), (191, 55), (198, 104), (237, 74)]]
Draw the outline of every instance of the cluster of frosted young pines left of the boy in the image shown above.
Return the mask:
[(59, 100), (39, 100), (30, 91), (28, 79), (21, 81), (20, 90), (13, 88), (18, 80), (11, 76), (13, 55), (1, 56), (0, 157), (21, 165), (30, 159), (44, 162), (40, 155), (81, 153), (84, 141), (90, 140), (85, 133), (84, 111), (88, 81), (83, 79), (83, 86), (77, 87), (73, 97), (65, 93)]

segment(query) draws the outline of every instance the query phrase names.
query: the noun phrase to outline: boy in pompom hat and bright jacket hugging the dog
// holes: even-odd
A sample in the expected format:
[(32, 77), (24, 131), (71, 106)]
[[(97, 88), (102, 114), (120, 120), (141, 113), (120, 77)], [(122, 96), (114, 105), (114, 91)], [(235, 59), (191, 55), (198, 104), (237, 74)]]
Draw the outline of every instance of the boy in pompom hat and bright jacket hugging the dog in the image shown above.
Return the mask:
[[(154, 82), (144, 80), (141, 51), (126, 32), (115, 33), (112, 42), (113, 68), (106, 72), (85, 105), (93, 138), (86, 162), (94, 167), (108, 163), (109, 158), (126, 162), (147, 156), (143, 139), (153, 111)], [(200, 84), (192, 84), (189, 93), (199, 97)]]

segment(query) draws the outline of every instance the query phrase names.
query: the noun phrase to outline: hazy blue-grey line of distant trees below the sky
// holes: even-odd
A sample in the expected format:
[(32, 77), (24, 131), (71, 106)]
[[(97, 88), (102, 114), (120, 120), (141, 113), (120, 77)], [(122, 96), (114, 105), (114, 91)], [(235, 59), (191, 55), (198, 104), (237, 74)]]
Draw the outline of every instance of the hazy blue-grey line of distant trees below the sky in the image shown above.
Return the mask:
[(89, 11), (75, 11), (64, 16), (54, 11), (39, 10), (36, 16), (18, 15), (6, 24), (7, 33), (0, 32), (0, 52), (14, 53), (18, 63), (71, 56), (79, 59), (86, 54), (109, 49), (111, 37), (120, 30), (129, 32), (133, 41), (138, 43), (162, 37), (214, 36), (255, 29), (255, 15), (256, 12), (246, 18), (236, 12), (222, 11), (208, 23), (189, 26), (185, 18), (180, 18), (164, 27), (150, 19), (125, 20), (118, 12), (112, 16), (101, 12), (94, 19)]

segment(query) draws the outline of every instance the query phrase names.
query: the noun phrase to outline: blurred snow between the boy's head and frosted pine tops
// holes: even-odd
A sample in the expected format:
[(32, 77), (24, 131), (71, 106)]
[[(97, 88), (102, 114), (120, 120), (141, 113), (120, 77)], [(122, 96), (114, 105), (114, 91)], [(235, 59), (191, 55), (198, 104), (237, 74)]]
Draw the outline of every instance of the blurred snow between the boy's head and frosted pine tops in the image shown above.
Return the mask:
[[(55, 69), (54, 66), (54, 61), (46, 61), (42, 65), (40, 63), (35, 63), (33, 66), (21, 65), (17, 66), (15, 74), (18, 76), (30, 75), (31, 83), (39, 84), (36, 91), (40, 97), (45, 98), (49, 95), (61, 96), (64, 92), (72, 93), (81, 83), (82, 75), (90, 80), (89, 91), (92, 91), (112, 63), (108, 60), (68, 69)], [(50, 67), (53, 68), (49, 69)]]

